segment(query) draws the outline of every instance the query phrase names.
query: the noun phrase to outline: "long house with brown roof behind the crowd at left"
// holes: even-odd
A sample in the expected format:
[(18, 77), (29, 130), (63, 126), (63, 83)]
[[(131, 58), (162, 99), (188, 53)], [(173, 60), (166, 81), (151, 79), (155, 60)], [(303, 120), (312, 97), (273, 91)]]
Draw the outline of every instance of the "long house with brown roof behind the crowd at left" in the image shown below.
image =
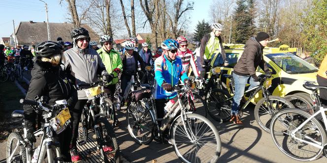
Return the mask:
[[(91, 40), (99, 40), (98, 35), (86, 24), (82, 24), (81, 27), (86, 28)], [(71, 23), (49, 23), (50, 40), (56, 41), (57, 38), (63, 38), (63, 41), (71, 42), (70, 31), (74, 28)], [(16, 34), (16, 37), (15, 37)], [(20, 22), (15, 29), (15, 34), (10, 35), (10, 44), (14, 46), (16, 44), (32, 46), (48, 40), (48, 30), (46, 22)]]

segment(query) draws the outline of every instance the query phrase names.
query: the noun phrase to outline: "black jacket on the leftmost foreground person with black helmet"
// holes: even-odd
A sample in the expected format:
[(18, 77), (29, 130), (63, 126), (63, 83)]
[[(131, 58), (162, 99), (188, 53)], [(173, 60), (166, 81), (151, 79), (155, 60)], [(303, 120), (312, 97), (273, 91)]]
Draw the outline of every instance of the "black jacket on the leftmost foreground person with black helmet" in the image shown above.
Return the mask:
[[(57, 100), (67, 100), (68, 108), (77, 102), (77, 92), (69, 83), (60, 66), (53, 67), (50, 62), (36, 60), (31, 71), (32, 79), (26, 100), (34, 100), (35, 96), (47, 97), (47, 104), (54, 105)], [(35, 128), (36, 114), (31, 106), (24, 105), (25, 127)]]

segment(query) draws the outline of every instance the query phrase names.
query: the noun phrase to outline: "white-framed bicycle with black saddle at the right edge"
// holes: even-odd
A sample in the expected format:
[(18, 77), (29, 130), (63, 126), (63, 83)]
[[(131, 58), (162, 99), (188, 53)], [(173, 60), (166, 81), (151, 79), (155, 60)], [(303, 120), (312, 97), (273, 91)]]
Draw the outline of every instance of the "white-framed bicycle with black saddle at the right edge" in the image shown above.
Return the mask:
[(320, 110), (312, 115), (302, 109), (280, 110), (272, 117), (270, 132), (275, 145), (285, 155), (298, 161), (313, 161), (322, 153), (327, 157), (327, 108), (321, 105), (318, 94), (319, 89), (327, 87), (313, 82), (305, 82), (303, 86), (312, 91), (316, 108)]

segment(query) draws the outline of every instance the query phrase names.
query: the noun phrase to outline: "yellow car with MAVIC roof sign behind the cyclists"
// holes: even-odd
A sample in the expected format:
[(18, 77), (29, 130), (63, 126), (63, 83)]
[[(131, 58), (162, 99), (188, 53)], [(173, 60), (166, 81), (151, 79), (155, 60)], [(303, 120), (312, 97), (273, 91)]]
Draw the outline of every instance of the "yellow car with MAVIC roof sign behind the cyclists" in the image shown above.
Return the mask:
[[(307, 93), (307, 96), (311, 94), (311, 91), (305, 89), (302, 84), (304, 81), (316, 81), (318, 68), (295, 55), (296, 49), (289, 48), (287, 45), (263, 49), (263, 58), (272, 72), (272, 84), (268, 88), (270, 94), (281, 97), (295, 93)], [(232, 73), (243, 51), (244, 45), (242, 44), (225, 46), (229, 66), (221, 67), (222, 74)], [(262, 69), (258, 67), (257, 75), (262, 73)], [(221, 80), (229, 85), (229, 79), (221, 76)], [(258, 93), (253, 102), (257, 102), (260, 98), (261, 93)]]

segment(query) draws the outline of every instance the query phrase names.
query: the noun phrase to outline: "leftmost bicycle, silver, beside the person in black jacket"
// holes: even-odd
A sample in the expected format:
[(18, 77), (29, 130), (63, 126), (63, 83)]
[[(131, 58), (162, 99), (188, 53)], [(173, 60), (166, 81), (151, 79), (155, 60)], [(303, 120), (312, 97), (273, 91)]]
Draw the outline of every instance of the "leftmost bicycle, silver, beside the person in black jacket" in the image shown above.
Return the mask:
[[(44, 103), (43, 97), (37, 101), (20, 100), (21, 104), (31, 105), (36, 113), (43, 111), (44, 125), (35, 131), (34, 136), (41, 136), (41, 145), (37, 158), (33, 156), (33, 143), (27, 138), (27, 129), (24, 128), (24, 135), (18, 132), (12, 132), (7, 138), (6, 161), (7, 163), (31, 163), (32, 159), (37, 163), (42, 163), (45, 156), (48, 163), (63, 163), (60, 151), (60, 142), (56, 140), (56, 134), (60, 134), (70, 123), (70, 113), (66, 108), (66, 100), (56, 101), (54, 106), (48, 106)], [(22, 118), (24, 110), (14, 110), (11, 114), (12, 118)], [(52, 118), (53, 115), (56, 117)], [(23, 122), (24, 126), (24, 122)], [(35, 152), (34, 152), (35, 153)]]

